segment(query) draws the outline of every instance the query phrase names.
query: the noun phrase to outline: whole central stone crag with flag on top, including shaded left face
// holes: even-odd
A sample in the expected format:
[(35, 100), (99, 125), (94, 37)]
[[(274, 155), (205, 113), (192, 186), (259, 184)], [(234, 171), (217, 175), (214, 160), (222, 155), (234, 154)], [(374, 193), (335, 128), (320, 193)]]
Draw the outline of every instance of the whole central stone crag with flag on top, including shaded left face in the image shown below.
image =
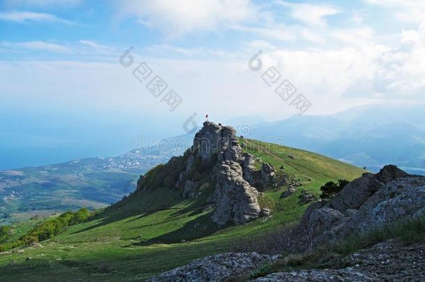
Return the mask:
[[(242, 154), (233, 127), (206, 122), (185, 153), (184, 168), (174, 186), (185, 198), (196, 198), (212, 186), (212, 221), (219, 226), (244, 224), (260, 216), (259, 191), (275, 177), (275, 169), (269, 164), (263, 164), (261, 171), (253, 165), (254, 157)], [(203, 177), (205, 174), (208, 176)], [(144, 189), (142, 178), (138, 189)]]

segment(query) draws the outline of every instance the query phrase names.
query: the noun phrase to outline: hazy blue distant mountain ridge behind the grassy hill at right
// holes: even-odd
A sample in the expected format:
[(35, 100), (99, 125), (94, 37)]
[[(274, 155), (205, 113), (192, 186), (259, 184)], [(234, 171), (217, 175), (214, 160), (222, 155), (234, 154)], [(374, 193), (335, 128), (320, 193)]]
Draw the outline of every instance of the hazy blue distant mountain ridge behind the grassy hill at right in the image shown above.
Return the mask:
[(248, 137), (270, 142), (284, 139), (286, 146), (371, 171), (396, 164), (409, 173), (425, 175), (425, 113), (420, 105), (373, 105), (328, 116), (293, 116), (254, 124)]

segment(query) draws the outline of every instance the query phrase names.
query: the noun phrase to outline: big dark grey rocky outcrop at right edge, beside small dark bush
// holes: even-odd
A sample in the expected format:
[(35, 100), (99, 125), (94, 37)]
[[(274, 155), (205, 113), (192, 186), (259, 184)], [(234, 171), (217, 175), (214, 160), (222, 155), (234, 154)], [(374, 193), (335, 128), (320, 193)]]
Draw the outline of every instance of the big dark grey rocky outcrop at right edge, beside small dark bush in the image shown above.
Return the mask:
[(300, 225), (288, 234), (288, 249), (332, 244), (348, 234), (422, 214), (425, 178), (385, 166), (377, 174), (365, 173), (350, 182), (332, 200), (310, 205)]

